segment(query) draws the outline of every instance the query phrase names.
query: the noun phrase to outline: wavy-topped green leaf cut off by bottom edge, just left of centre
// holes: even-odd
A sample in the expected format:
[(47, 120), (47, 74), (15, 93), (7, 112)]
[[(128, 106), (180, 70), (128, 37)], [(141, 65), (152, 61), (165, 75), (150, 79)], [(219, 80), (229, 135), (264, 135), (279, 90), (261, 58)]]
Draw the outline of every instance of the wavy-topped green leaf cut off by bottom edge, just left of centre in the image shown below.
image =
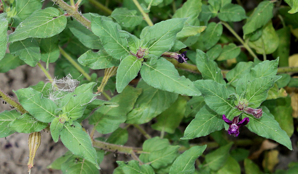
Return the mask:
[(116, 161), (124, 174), (141, 173), (154, 174), (153, 168), (147, 164), (139, 165), (139, 161), (131, 160), (128, 163), (124, 161)]

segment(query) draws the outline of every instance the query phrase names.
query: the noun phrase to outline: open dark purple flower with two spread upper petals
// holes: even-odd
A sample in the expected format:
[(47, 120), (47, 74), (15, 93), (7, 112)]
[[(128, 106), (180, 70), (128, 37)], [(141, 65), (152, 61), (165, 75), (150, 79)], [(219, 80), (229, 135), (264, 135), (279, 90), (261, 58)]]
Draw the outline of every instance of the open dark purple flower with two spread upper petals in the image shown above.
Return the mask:
[(228, 133), (230, 135), (234, 135), (237, 137), (239, 135), (239, 128), (241, 126), (247, 125), (249, 122), (249, 118), (246, 117), (243, 120), (239, 121), (239, 115), (234, 117), (232, 121), (226, 118), (226, 115), (222, 115), (222, 119), (226, 122), (226, 124), (230, 125), (228, 129)]

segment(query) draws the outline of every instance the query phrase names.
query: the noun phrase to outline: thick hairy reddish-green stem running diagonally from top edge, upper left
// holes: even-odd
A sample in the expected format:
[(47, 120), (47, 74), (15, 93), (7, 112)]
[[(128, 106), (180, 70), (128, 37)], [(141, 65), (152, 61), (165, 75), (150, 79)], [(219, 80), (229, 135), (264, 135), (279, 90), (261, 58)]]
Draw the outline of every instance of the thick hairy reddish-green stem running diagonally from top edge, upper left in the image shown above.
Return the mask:
[(66, 13), (68, 15), (77, 19), (77, 21), (80, 22), (82, 25), (84, 25), (87, 29), (91, 28), (91, 22), (88, 19), (86, 19), (84, 16), (82, 16), (82, 14), (78, 12), (76, 7), (72, 7), (72, 6), (68, 5), (63, 0), (51, 0), (51, 1), (56, 3), (64, 11), (66, 11)]

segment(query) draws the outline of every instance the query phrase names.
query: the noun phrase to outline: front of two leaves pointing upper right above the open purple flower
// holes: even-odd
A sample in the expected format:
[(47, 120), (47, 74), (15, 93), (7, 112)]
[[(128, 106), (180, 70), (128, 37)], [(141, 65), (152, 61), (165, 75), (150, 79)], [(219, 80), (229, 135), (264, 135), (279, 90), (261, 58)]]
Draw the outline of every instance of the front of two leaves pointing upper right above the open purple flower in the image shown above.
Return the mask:
[(247, 102), (250, 103), (249, 106), (258, 108), (261, 103), (266, 100), (268, 90), (273, 87), (274, 83), (280, 78), (281, 76), (266, 76), (256, 78), (249, 82), (246, 89), (242, 92)]

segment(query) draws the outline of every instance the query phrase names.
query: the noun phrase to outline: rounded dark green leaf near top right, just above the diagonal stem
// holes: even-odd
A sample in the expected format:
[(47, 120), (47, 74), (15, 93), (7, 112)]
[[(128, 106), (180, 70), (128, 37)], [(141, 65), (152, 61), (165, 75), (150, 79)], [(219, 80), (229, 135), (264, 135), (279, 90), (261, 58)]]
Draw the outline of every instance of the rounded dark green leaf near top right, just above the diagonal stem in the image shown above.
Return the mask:
[(218, 18), (226, 22), (238, 22), (247, 18), (245, 10), (237, 4), (226, 4), (218, 13)]

